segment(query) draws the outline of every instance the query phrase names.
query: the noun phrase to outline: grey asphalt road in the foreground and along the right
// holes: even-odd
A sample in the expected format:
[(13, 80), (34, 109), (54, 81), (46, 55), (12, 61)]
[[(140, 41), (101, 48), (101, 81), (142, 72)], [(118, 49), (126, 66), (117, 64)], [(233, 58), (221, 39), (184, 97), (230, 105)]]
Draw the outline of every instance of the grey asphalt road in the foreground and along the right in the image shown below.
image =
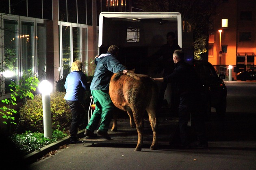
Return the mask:
[(32, 170), (255, 170), (256, 82), (225, 82), (228, 87), (226, 119), (214, 112), (206, 122), (208, 149), (171, 149), (164, 145), (140, 152), (134, 144), (69, 144), (41, 159)]

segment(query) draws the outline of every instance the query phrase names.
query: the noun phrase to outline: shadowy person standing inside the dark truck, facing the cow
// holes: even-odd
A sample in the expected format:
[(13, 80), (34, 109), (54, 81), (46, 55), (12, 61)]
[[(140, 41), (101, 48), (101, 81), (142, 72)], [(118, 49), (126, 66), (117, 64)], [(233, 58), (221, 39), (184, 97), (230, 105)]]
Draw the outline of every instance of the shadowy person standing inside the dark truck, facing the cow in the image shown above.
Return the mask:
[[(180, 46), (176, 42), (176, 36), (175, 36), (174, 32), (168, 32), (166, 34), (166, 39), (167, 39), (167, 43), (164, 44), (156, 53), (154, 53), (154, 55), (151, 56), (154, 60), (162, 57), (160, 70), (162, 71), (162, 69), (163, 69), (163, 77), (165, 77), (173, 72), (174, 61), (172, 59), (172, 55), (174, 53), (174, 50), (180, 49)], [(158, 98), (159, 106), (165, 105), (164, 104), (164, 96), (165, 96), (165, 90), (167, 88), (167, 84), (168, 83), (166, 83), (166, 82), (161, 83), (161, 87), (160, 87), (160, 91), (159, 91), (159, 98)], [(175, 93), (172, 90), (172, 94), (171, 94), (171, 108), (172, 109), (176, 108), (176, 106), (178, 104), (176, 101), (177, 100), (175, 97)], [(173, 110), (173, 111), (177, 113), (177, 110)]]

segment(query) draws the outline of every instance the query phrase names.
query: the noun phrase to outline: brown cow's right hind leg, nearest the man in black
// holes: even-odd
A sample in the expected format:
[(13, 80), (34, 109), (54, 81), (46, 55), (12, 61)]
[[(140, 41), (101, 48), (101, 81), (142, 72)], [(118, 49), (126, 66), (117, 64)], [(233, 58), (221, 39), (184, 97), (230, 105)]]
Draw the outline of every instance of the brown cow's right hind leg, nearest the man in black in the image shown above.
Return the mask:
[(153, 141), (150, 146), (150, 149), (156, 150), (157, 149), (157, 126), (158, 126), (158, 120), (156, 118), (156, 112), (154, 109), (147, 109), (148, 112), (148, 118), (150, 121), (150, 125), (153, 131)]

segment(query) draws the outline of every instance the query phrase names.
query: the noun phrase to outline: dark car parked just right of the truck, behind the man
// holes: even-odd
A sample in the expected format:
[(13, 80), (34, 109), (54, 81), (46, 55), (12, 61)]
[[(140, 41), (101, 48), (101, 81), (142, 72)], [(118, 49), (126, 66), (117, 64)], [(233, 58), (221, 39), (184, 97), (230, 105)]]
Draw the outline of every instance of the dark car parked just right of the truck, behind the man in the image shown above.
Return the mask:
[(210, 115), (211, 107), (216, 109), (216, 113), (224, 115), (227, 106), (227, 88), (223, 81), (224, 74), (217, 74), (215, 68), (209, 62), (196, 61), (195, 70), (200, 77), (203, 94), (202, 101), (206, 109), (207, 116)]

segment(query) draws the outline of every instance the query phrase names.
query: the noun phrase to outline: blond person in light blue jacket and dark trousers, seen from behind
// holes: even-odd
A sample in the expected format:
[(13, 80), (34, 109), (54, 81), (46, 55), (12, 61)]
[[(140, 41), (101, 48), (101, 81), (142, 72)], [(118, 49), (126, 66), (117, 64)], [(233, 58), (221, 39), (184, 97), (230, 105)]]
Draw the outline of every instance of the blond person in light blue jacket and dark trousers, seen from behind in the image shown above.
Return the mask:
[(70, 126), (70, 143), (82, 143), (76, 138), (78, 132), (78, 125), (81, 116), (85, 113), (83, 100), (85, 97), (85, 90), (88, 90), (86, 75), (82, 72), (82, 62), (76, 60), (72, 63), (71, 72), (67, 75), (65, 81), (66, 94), (64, 99), (69, 105), (72, 114), (72, 122)]

